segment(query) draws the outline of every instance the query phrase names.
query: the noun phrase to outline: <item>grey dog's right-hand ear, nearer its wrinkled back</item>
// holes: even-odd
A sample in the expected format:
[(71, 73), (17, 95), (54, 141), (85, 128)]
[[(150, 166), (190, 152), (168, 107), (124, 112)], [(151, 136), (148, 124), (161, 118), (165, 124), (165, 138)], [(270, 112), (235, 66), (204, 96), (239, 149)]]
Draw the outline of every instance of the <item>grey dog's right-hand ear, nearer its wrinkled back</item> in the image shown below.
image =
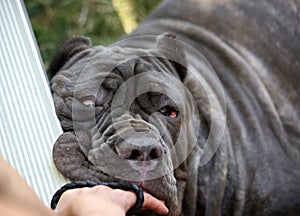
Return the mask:
[(172, 33), (159, 35), (156, 39), (156, 46), (174, 65), (180, 79), (184, 80), (187, 73), (185, 54), (182, 44), (176, 39), (176, 35)]

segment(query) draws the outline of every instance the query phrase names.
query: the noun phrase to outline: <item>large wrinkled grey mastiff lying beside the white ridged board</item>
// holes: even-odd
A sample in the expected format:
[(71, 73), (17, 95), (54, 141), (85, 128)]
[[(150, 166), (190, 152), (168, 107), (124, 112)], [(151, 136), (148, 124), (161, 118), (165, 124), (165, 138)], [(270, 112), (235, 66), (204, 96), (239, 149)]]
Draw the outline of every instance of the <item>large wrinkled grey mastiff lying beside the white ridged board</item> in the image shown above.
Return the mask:
[(166, 0), (49, 71), (67, 178), (134, 182), (172, 216), (300, 214), (298, 0)]

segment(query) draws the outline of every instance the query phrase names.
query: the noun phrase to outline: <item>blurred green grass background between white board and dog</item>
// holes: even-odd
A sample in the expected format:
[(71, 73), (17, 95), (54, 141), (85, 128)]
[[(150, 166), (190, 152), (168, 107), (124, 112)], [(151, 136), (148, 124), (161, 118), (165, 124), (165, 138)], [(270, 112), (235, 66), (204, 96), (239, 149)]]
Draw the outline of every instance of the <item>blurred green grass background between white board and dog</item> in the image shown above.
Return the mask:
[(130, 33), (161, 0), (24, 0), (46, 68), (72, 35), (109, 45)]

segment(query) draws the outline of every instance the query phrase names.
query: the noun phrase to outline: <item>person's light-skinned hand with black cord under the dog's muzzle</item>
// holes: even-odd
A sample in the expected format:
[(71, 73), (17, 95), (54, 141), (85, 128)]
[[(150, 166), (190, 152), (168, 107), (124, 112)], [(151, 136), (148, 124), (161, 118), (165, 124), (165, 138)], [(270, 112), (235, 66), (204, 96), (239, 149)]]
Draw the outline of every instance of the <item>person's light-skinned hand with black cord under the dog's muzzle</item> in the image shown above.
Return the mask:
[[(124, 216), (135, 202), (133, 192), (98, 185), (66, 191), (56, 206), (56, 212), (59, 216)], [(145, 192), (143, 208), (157, 214), (168, 213), (163, 201)]]

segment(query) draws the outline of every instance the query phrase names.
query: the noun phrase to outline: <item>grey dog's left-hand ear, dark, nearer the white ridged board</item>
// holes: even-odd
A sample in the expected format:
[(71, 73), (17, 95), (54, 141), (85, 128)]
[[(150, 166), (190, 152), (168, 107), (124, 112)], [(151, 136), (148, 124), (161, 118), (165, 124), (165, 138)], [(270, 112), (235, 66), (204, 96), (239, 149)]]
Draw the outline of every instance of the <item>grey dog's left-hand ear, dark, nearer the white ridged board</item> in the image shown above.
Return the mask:
[(91, 40), (82, 36), (73, 36), (67, 40), (54, 55), (48, 74), (53, 77), (64, 64), (75, 54), (91, 47)]

